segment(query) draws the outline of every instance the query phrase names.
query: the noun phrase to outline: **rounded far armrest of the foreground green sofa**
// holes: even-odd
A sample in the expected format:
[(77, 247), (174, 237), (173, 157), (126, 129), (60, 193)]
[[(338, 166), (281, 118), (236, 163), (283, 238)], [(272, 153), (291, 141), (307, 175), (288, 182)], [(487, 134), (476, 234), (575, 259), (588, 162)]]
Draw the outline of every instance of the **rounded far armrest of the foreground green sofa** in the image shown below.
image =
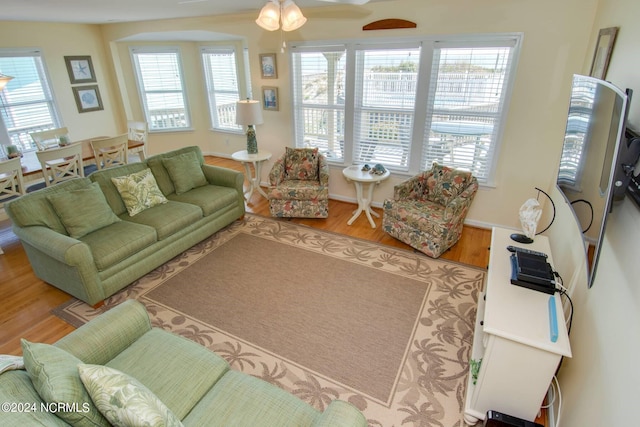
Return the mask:
[(151, 330), (144, 305), (126, 300), (61, 338), (57, 347), (84, 363), (104, 365)]

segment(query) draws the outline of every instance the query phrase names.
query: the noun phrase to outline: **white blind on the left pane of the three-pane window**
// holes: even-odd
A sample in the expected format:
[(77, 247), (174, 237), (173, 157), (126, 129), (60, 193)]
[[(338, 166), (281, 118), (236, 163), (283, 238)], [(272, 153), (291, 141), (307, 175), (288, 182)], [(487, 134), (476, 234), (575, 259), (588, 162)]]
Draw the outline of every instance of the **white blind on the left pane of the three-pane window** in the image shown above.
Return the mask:
[(292, 53), (293, 109), (298, 147), (318, 147), (331, 161), (345, 155), (344, 48)]

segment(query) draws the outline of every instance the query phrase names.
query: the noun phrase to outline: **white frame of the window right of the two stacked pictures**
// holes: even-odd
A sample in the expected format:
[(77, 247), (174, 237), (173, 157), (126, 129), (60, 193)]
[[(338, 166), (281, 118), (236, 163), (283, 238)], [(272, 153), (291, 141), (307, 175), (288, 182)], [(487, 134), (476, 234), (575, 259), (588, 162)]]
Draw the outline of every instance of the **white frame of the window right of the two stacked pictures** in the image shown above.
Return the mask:
[[(129, 48), (129, 53), (131, 55), (131, 63), (133, 64), (133, 69), (135, 71), (136, 76), (136, 85), (138, 88), (138, 95), (140, 96), (140, 104), (142, 105), (142, 110), (145, 115), (145, 119), (149, 124), (149, 133), (154, 132), (176, 132), (176, 131), (190, 131), (191, 127), (191, 113), (189, 109), (189, 98), (187, 96), (187, 89), (185, 84), (184, 72), (182, 68), (182, 53), (180, 48), (177, 46), (131, 46)], [(180, 88), (179, 89), (167, 89), (167, 90), (145, 90), (143, 84), (143, 78), (141, 75), (140, 65), (138, 61), (138, 54), (173, 54), (176, 56), (176, 67), (177, 71), (180, 73)], [(180, 93), (182, 96), (183, 108), (184, 108), (184, 125), (182, 126), (156, 126), (156, 120), (151, 116), (151, 112), (149, 111), (148, 106), (148, 98), (147, 94), (172, 94), (172, 93)], [(167, 120), (169, 122), (175, 122), (175, 118), (171, 117), (171, 114), (167, 115)], [(181, 119), (178, 119), (181, 120)]]

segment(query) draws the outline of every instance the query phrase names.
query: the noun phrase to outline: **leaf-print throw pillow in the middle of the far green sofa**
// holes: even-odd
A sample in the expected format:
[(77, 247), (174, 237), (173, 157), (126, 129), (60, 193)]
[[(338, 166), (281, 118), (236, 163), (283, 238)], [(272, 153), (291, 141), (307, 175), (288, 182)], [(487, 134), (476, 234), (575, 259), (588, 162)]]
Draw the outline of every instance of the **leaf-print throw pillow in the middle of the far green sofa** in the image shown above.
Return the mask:
[(120, 193), (129, 216), (137, 215), (143, 210), (156, 205), (167, 203), (167, 198), (158, 188), (158, 183), (153, 177), (151, 169), (111, 178), (111, 182)]

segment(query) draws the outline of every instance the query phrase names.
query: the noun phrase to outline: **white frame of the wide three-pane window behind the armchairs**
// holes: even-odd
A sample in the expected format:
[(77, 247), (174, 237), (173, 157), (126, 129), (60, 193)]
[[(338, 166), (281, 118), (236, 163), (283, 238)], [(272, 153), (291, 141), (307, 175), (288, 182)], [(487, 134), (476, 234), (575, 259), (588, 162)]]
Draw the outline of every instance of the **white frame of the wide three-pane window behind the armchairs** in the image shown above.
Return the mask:
[[(354, 110), (357, 104), (357, 94), (355, 86), (355, 74), (356, 74), (356, 61), (355, 51), (358, 49), (380, 48), (381, 46), (388, 46), (390, 49), (394, 46), (404, 44), (420, 45), (421, 54), (418, 68), (418, 83), (417, 83), (417, 95), (414, 109), (414, 120), (412, 127), (412, 137), (409, 147), (409, 159), (405, 167), (394, 167), (393, 165), (388, 167), (394, 174), (413, 176), (422, 170), (427, 168), (424, 157), (425, 133), (430, 129), (430, 120), (427, 118), (433, 113), (429, 109), (429, 96), (432, 79), (432, 63), (434, 60), (434, 52), (438, 46), (451, 45), (451, 46), (491, 46), (495, 44), (496, 47), (505, 46), (507, 44), (511, 47), (511, 61), (509, 64), (509, 72), (504, 82), (504, 91), (501, 101), (501, 110), (499, 112), (499, 118), (497, 125), (493, 129), (492, 142), (491, 142), (491, 158), (489, 166), (487, 168), (487, 175), (479, 177), (479, 182), (483, 186), (495, 186), (495, 169), (496, 162), (499, 157), (499, 150), (501, 146), (503, 128), (506, 122), (507, 113), (509, 110), (509, 100), (511, 98), (511, 92), (513, 90), (513, 82), (515, 80), (515, 74), (517, 69), (517, 63), (519, 58), (520, 47), (522, 45), (523, 34), (522, 33), (499, 33), (499, 34), (482, 34), (482, 35), (452, 35), (452, 36), (425, 36), (425, 37), (411, 37), (411, 38), (388, 38), (388, 39), (367, 39), (367, 40), (348, 40), (348, 41), (314, 41), (314, 42), (292, 42), (289, 43), (289, 55), (292, 70), (291, 75), (294, 78), (291, 79), (291, 93), (294, 94), (293, 102), (293, 116), (294, 116), (294, 140), (295, 145), (304, 146), (304, 125), (300, 123), (299, 103), (295, 99), (295, 94), (299, 92), (296, 85), (299, 82), (296, 81), (295, 76), (299, 74), (299, 70), (295, 70), (295, 55), (299, 52), (317, 52), (324, 49), (345, 49), (346, 50), (346, 90), (345, 90), (345, 129), (344, 129), (344, 155), (342, 159), (331, 160), (330, 164), (333, 165), (350, 165), (354, 161), (360, 162), (356, 156), (357, 141), (354, 140), (355, 121)], [(435, 76), (433, 76), (435, 78)]]

